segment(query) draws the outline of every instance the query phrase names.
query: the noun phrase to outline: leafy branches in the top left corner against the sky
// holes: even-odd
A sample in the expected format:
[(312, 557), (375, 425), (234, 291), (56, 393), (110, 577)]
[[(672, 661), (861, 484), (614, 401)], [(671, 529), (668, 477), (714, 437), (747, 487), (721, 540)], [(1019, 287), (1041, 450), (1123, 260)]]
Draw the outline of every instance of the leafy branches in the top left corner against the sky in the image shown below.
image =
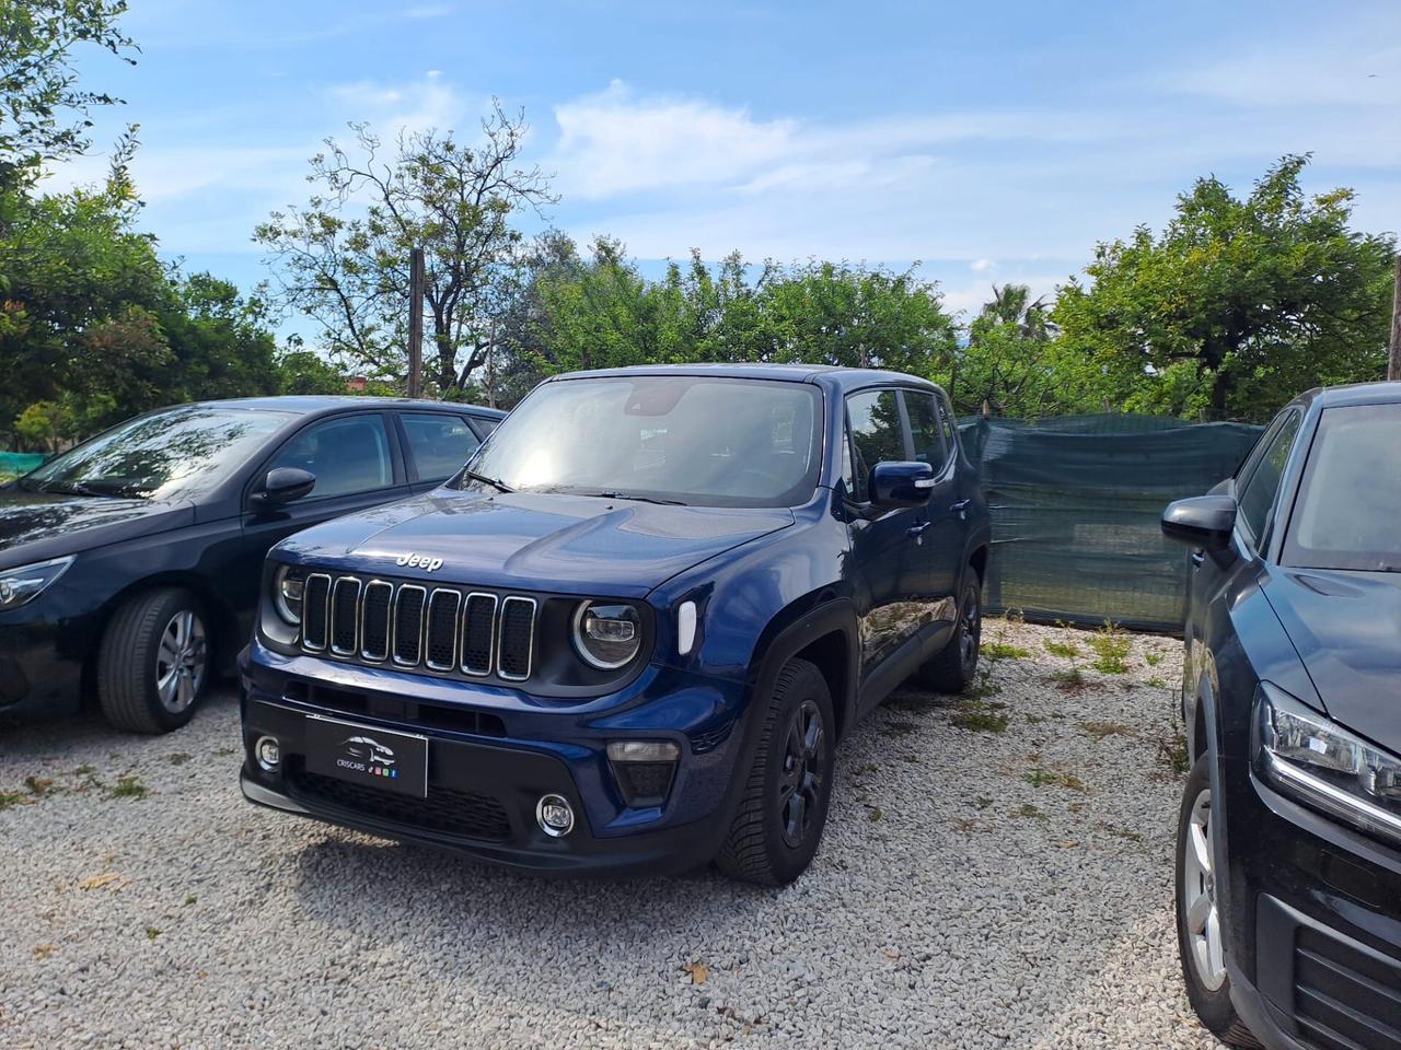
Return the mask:
[(87, 148), (90, 113), (120, 99), (77, 85), (74, 49), (136, 64), (118, 29), (125, 0), (0, 0), (0, 185)]

